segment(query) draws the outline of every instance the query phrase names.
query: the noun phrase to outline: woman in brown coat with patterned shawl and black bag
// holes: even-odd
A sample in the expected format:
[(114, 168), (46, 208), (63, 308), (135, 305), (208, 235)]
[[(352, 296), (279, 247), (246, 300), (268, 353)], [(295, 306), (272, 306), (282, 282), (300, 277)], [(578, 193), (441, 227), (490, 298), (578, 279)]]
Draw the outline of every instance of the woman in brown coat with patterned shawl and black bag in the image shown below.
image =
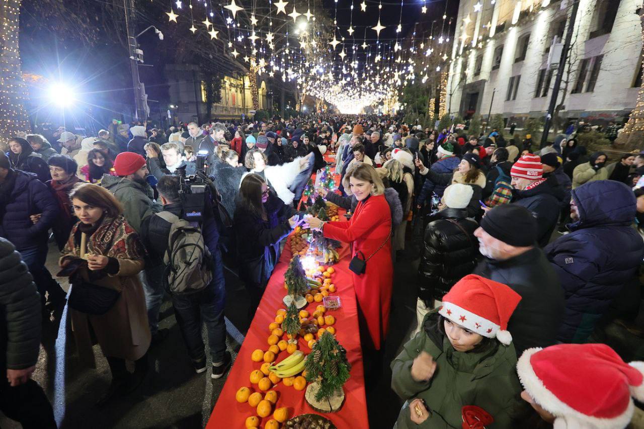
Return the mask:
[[(70, 200), (81, 222), (71, 229), (61, 253), (61, 275), (70, 276), (68, 301), (81, 360), (95, 367), (93, 337), (108, 360), (112, 381), (97, 405), (127, 394), (147, 372), (150, 330), (146, 300), (137, 274), (146, 251), (122, 215), (122, 205), (107, 189), (82, 183)], [(135, 371), (126, 369), (126, 359)]]

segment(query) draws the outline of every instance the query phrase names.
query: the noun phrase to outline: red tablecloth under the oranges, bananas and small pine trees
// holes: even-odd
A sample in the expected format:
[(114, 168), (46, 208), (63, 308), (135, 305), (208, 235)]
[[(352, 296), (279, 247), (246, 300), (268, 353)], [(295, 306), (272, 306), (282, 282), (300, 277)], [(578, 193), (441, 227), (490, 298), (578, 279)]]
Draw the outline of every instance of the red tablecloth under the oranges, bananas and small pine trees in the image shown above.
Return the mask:
[[(336, 327), (336, 338), (346, 348), (346, 357), (352, 367), (350, 378), (344, 386), (346, 398), (343, 407), (339, 412), (322, 415), (330, 419), (337, 428), (354, 427), (362, 429), (368, 428), (369, 423), (366, 414), (365, 379), (358, 333), (357, 305), (352, 274), (348, 269), (348, 245), (343, 244), (339, 253), (341, 260), (333, 266), (336, 272), (334, 272), (332, 280), (337, 287), (335, 295), (340, 297), (342, 307), (339, 310), (328, 311), (327, 314), (332, 314), (336, 317), (336, 324), (334, 325)], [(264, 351), (268, 350), (269, 324), (274, 321), (277, 310), (285, 308), (282, 302), (286, 294), (284, 273), (288, 268), (290, 255), (290, 245), (287, 243), (270, 277), (269, 284), (261, 298), (260, 306), (252, 319), (251, 327), (223, 386), (222, 393), (214, 406), (213, 414), (211, 414), (206, 426), (208, 429), (243, 428), (247, 417), (257, 415), (256, 410), (251, 408), (248, 403), (238, 403), (235, 399), (235, 394), (242, 386), (250, 387), (253, 392), (261, 392), (256, 385), (251, 384), (249, 379), (252, 370), (258, 370), (261, 367), (261, 363), (251, 360), (251, 354), (256, 348), (261, 348)], [(314, 301), (308, 304), (305, 310), (312, 313), (317, 305), (319, 303)], [(286, 335), (283, 338), (286, 338)], [(306, 354), (310, 352), (302, 338), (299, 339), (298, 350), (302, 350)], [(286, 351), (280, 352), (276, 361), (281, 361), (287, 356), (289, 354)], [(274, 408), (288, 407), (289, 418), (299, 414), (319, 414), (308, 406), (304, 399), (304, 390), (295, 390), (293, 386), (285, 386), (281, 382), (273, 386), (272, 390), (278, 392), (278, 402)], [(272, 415), (261, 419), (261, 426), (269, 419), (272, 419)]]

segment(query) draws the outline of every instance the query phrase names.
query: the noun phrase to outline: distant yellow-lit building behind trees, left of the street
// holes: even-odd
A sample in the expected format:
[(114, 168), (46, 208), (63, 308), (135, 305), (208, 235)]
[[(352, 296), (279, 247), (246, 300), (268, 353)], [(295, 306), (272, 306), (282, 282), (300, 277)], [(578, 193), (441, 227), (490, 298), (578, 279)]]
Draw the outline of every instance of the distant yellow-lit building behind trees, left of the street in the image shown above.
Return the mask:
[[(225, 76), (222, 81), (221, 101), (211, 106), (210, 118), (207, 109), (207, 87), (199, 66), (193, 64), (166, 64), (172, 115), (180, 122), (205, 122), (208, 119), (241, 119), (252, 116), (251, 84), (247, 75)], [(267, 82), (257, 78), (260, 109), (269, 108), (270, 97)]]

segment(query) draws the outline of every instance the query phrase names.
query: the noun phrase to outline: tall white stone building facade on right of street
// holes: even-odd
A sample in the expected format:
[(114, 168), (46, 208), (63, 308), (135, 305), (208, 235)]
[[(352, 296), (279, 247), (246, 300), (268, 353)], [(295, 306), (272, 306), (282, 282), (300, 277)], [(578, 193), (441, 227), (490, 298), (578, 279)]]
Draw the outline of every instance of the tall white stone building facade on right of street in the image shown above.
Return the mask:
[[(641, 86), (641, 0), (578, 0), (557, 104), (562, 123), (623, 120)], [(447, 106), (465, 118), (544, 118), (573, 0), (461, 0)]]

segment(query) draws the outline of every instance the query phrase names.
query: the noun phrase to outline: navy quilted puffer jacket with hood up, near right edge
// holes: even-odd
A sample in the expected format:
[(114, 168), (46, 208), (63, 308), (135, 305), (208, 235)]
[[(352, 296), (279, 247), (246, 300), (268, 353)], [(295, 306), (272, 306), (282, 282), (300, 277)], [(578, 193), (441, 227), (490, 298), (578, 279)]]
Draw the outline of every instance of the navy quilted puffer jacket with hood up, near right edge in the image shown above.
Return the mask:
[(565, 292), (558, 339), (582, 343), (644, 258), (644, 242), (630, 226), (633, 191), (614, 180), (596, 180), (572, 191), (580, 219), (571, 233), (545, 247)]

